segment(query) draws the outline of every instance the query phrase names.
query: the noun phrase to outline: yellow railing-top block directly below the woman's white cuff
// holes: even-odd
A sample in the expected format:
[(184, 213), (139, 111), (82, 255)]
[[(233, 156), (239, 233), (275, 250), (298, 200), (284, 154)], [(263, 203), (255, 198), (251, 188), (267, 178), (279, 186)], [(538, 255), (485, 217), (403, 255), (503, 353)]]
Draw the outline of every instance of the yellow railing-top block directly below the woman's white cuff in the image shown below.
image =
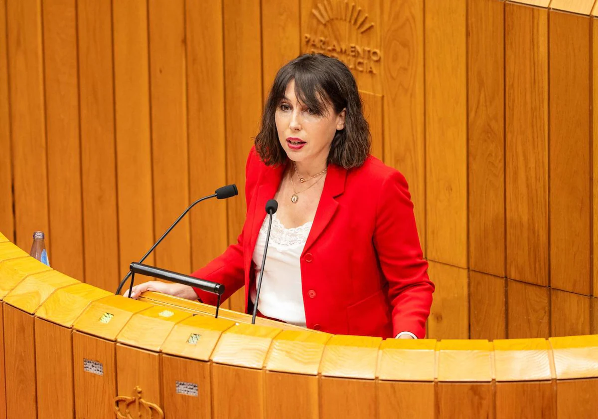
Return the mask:
[(392, 381), (434, 381), (435, 339), (386, 339), (376, 376)]

